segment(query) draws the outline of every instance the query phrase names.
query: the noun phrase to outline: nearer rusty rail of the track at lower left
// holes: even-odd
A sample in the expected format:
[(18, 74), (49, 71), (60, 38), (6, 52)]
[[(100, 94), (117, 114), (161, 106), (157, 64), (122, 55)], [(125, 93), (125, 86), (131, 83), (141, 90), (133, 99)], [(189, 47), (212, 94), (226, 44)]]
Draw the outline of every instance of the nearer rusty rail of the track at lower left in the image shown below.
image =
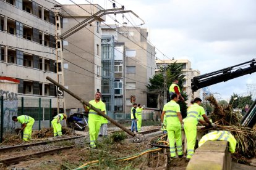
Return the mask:
[(14, 163), (19, 163), (20, 161), (24, 161), (27, 160), (28, 158), (32, 158), (35, 156), (41, 156), (41, 155), (45, 155), (45, 154), (49, 154), (49, 153), (56, 153), (56, 151), (59, 150), (66, 150), (72, 147), (75, 147), (77, 145), (71, 145), (71, 146), (67, 146), (67, 147), (60, 147), (60, 148), (54, 148), (54, 149), (49, 149), (49, 150), (44, 150), (41, 152), (35, 152), (35, 153), (30, 153), (30, 154), (26, 154), (26, 155), (20, 155), (20, 156), (12, 156), (9, 158), (4, 158), (0, 160), (0, 163), (4, 163), (7, 166), (9, 166), (10, 164), (14, 164)]

